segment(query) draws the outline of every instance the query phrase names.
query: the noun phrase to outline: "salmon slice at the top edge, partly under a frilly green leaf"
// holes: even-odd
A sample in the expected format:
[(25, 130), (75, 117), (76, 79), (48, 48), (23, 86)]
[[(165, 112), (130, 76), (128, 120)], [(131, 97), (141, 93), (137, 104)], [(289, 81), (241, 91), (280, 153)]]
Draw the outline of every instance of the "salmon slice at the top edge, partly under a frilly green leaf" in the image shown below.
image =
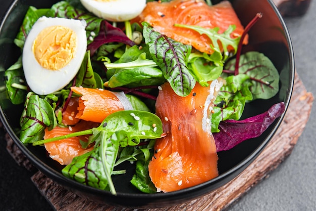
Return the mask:
[[(219, 27), (219, 33), (223, 33), (230, 25), (236, 29), (231, 37), (239, 37), (244, 31), (232, 5), (223, 1), (214, 6), (208, 6), (204, 0), (173, 0), (168, 3), (148, 2), (143, 12), (134, 20), (139, 23), (145, 21), (153, 29), (183, 44), (191, 45), (200, 52), (212, 54), (210, 48), (212, 40), (205, 34), (174, 24), (201, 26), (203, 28)], [(248, 43), (246, 37), (243, 44)]]

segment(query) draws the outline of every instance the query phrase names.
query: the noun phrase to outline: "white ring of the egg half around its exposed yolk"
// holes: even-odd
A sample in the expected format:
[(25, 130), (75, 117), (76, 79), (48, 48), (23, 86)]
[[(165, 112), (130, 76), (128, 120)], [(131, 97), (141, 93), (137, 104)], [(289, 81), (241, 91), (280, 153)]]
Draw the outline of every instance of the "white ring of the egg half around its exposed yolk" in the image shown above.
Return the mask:
[[(37, 35), (46, 27), (65, 26), (77, 35), (76, 52), (70, 62), (59, 70), (42, 67), (32, 51)], [(63, 89), (77, 74), (87, 49), (86, 22), (66, 18), (41, 17), (27, 35), (22, 53), (22, 64), (29, 88), (38, 95), (47, 95)]]

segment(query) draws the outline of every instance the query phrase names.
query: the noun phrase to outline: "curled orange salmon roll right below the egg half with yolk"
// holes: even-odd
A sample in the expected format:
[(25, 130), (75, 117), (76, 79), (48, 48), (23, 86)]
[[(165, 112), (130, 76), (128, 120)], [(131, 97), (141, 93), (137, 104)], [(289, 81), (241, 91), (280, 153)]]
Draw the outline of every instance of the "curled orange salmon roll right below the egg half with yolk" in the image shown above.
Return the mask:
[(109, 90), (83, 87), (72, 87), (71, 90), (82, 95), (79, 98), (76, 118), (102, 122), (111, 113), (124, 110), (120, 99)]

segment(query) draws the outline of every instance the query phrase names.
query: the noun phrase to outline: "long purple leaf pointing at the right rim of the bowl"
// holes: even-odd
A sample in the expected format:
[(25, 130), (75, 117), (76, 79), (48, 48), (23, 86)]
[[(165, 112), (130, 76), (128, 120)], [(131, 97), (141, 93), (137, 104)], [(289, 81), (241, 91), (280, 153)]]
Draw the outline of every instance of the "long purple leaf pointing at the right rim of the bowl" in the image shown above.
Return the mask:
[(229, 150), (247, 139), (260, 136), (284, 111), (285, 105), (281, 102), (264, 113), (244, 120), (222, 121), (219, 125), (220, 132), (213, 134), (217, 151)]

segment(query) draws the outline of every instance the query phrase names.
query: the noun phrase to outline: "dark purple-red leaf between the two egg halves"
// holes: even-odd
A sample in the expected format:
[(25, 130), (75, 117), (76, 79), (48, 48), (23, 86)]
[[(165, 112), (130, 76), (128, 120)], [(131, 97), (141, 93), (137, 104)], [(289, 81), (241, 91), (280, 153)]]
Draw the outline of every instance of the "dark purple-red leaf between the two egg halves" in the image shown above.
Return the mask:
[(92, 56), (100, 46), (113, 42), (124, 43), (129, 46), (135, 45), (120, 28), (114, 27), (104, 20), (101, 22), (99, 34), (88, 45), (87, 50), (90, 50)]

